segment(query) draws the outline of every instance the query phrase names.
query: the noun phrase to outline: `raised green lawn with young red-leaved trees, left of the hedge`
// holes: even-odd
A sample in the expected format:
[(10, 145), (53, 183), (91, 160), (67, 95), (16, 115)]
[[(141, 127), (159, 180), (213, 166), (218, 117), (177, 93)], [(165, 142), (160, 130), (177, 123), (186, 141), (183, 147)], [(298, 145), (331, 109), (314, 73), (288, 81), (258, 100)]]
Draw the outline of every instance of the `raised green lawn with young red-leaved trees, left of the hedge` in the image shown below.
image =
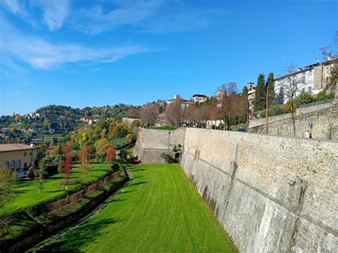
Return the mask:
[[(39, 192), (39, 183), (37, 181), (19, 181), (14, 187), (16, 194), (14, 195), (13, 200), (5, 204), (0, 210), (0, 214), (11, 213), (14, 212), (16, 208), (24, 209), (29, 206), (37, 205), (41, 201), (66, 195), (67, 191), (73, 192), (78, 190), (84, 185), (89, 185), (91, 182), (95, 182), (104, 177), (108, 171), (111, 171), (111, 167), (106, 164), (93, 164), (92, 166), (91, 172), (86, 176), (81, 172), (79, 165), (74, 165), (71, 173), (71, 180), (78, 180), (79, 182), (76, 185), (61, 185), (64, 180), (63, 174), (49, 177), (44, 184), (43, 192)], [(63, 187), (68, 187), (68, 189), (63, 190)]]

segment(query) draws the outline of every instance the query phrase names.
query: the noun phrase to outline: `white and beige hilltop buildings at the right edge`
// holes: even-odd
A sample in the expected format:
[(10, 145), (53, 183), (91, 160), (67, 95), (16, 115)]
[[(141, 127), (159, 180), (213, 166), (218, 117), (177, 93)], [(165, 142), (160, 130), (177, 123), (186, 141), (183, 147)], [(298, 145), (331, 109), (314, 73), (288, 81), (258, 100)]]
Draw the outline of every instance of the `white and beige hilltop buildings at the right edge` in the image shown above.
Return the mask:
[(337, 65), (338, 58), (329, 57), (327, 61), (322, 63), (317, 62), (304, 66), (304, 68), (297, 68), (295, 72), (275, 78), (277, 103), (287, 103), (287, 86), (290, 86), (290, 83), (297, 84), (296, 96), (301, 92), (309, 92), (315, 95), (323, 91), (331, 82), (332, 68)]

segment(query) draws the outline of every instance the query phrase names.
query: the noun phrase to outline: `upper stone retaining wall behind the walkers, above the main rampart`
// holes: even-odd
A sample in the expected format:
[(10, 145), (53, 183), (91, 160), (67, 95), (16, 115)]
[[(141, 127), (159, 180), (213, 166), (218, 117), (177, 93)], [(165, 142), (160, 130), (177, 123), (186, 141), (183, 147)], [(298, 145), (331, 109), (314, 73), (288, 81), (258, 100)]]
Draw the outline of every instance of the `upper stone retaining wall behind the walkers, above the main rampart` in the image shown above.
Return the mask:
[[(290, 115), (287, 114), (287, 117), (281, 119), (275, 118), (280, 116), (282, 115), (270, 117), (272, 119), (269, 120), (269, 134), (291, 136), (292, 120)], [(309, 127), (310, 122), (313, 123), (312, 128)], [(312, 133), (312, 138), (338, 140), (338, 105), (331, 103), (331, 106), (327, 108), (297, 115), (295, 123), (297, 137), (303, 137), (304, 133), (309, 130)], [(249, 132), (265, 133), (265, 123), (255, 127), (252, 126), (254, 124), (250, 123), (250, 125)]]

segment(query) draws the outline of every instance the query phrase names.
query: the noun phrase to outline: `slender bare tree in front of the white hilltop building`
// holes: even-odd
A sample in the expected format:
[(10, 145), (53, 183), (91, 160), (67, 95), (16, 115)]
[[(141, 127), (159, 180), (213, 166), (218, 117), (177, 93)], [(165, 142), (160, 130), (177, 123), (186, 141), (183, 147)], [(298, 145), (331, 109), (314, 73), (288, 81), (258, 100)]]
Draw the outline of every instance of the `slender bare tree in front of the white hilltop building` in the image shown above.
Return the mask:
[(290, 103), (290, 113), (291, 113), (291, 121), (292, 121), (292, 135), (296, 136), (296, 123), (295, 123), (295, 112), (296, 112), (296, 103), (295, 98), (299, 93), (302, 92), (302, 88), (305, 83), (302, 78), (299, 76), (292, 74), (295, 72), (295, 66), (290, 63), (286, 68), (287, 78), (284, 78), (281, 82), (281, 87), (284, 90), (284, 97)]

